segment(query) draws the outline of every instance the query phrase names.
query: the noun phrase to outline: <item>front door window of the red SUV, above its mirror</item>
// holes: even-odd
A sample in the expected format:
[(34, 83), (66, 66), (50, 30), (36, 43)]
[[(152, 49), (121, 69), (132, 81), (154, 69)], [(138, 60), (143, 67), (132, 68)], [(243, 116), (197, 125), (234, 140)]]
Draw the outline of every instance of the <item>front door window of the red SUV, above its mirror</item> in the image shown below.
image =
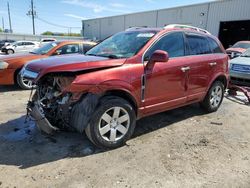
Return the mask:
[(171, 33), (161, 38), (153, 47), (147, 51), (145, 59), (148, 60), (156, 50), (168, 52), (169, 57), (180, 57), (185, 55), (183, 34)]

